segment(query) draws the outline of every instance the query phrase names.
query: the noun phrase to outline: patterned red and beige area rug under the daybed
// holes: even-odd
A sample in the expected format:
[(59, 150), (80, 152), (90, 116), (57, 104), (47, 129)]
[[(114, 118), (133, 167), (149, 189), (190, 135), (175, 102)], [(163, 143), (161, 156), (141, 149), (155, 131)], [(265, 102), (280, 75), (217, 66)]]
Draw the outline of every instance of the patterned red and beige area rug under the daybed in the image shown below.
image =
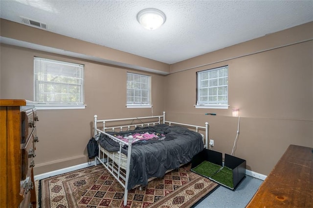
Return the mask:
[(219, 185), (190, 171), (190, 165), (128, 192), (102, 165), (39, 181), (39, 208), (190, 208)]

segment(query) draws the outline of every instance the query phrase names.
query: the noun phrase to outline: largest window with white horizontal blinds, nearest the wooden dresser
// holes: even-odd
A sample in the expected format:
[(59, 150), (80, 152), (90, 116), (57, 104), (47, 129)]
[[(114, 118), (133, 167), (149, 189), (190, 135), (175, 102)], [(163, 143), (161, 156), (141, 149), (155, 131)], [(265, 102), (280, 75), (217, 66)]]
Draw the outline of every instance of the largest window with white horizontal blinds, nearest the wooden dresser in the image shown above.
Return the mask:
[(37, 109), (80, 109), (84, 105), (84, 66), (34, 57)]

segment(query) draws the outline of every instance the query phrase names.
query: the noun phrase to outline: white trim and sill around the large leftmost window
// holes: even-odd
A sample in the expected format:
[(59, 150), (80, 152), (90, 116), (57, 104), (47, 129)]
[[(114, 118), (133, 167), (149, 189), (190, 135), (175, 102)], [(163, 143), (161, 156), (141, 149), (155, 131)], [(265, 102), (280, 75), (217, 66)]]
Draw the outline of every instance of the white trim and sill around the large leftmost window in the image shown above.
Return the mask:
[[(55, 62), (55, 63), (62, 63), (64, 65), (76, 65), (79, 67), (82, 67), (82, 79), (83, 79), (83, 83), (82, 83), (82, 96), (83, 96), (83, 100), (82, 102), (79, 103), (53, 103), (53, 102), (38, 102), (35, 101), (35, 95), (36, 95), (36, 75), (35, 75), (35, 60), (46, 60), (46, 61), (50, 61), (50, 62)], [(71, 63), (71, 62), (67, 62), (67, 61), (59, 61), (59, 60), (54, 60), (54, 59), (47, 59), (47, 58), (41, 58), (41, 57), (36, 57), (34, 56), (34, 102), (33, 102), (34, 107), (37, 110), (55, 110), (55, 109), (85, 109), (87, 105), (85, 105), (85, 71), (84, 71), (84, 65), (82, 64), (76, 64), (76, 63)]]

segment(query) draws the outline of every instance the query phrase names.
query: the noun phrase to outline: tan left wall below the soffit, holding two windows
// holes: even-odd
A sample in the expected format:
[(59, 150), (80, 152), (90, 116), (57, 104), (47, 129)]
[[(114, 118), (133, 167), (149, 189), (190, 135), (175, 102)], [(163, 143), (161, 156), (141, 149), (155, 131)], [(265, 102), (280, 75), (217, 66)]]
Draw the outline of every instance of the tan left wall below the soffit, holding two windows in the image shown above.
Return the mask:
[[(85, 65), (86, 109), (39, 110), (35, 174), (87, 162), (86, 145), (92, 136), (93, 116), (100, 119), (150, 116), (152, 109), (126, 108), (126, 72), (113, 66), (26, 49), (1, 45), (1, 99), (33, 100), (33, 57), (44, 57)], [(164, 76), (152, 76), (153, 114), (164, 110)]]

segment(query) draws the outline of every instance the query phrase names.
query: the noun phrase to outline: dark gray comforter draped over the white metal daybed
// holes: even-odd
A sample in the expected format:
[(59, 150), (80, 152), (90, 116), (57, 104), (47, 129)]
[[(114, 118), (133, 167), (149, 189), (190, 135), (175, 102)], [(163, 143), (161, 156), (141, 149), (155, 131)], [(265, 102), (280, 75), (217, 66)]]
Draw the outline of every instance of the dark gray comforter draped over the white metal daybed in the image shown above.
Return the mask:
[[(185, 127), (160, 124), (154, 127), (137, 128), (134, 131), (164, 134), (165, 139), (132, 144), (129, 190), (135, 185), (147, 185), (151, 177), (159, 178), (167, 170), (179, 168), (180, 164), (190, 162), (203, 150), (201, 135)], [(110, 134), (116, 135), (117, 133)], [(131, 132), (121, 134), (131, 134)], [(119, 144), (104, 134), (100, 135), (99, 143), (110, 152), (119, 151)], [(122, 148), (122, 153), (127, 155), (127, 146)]]

